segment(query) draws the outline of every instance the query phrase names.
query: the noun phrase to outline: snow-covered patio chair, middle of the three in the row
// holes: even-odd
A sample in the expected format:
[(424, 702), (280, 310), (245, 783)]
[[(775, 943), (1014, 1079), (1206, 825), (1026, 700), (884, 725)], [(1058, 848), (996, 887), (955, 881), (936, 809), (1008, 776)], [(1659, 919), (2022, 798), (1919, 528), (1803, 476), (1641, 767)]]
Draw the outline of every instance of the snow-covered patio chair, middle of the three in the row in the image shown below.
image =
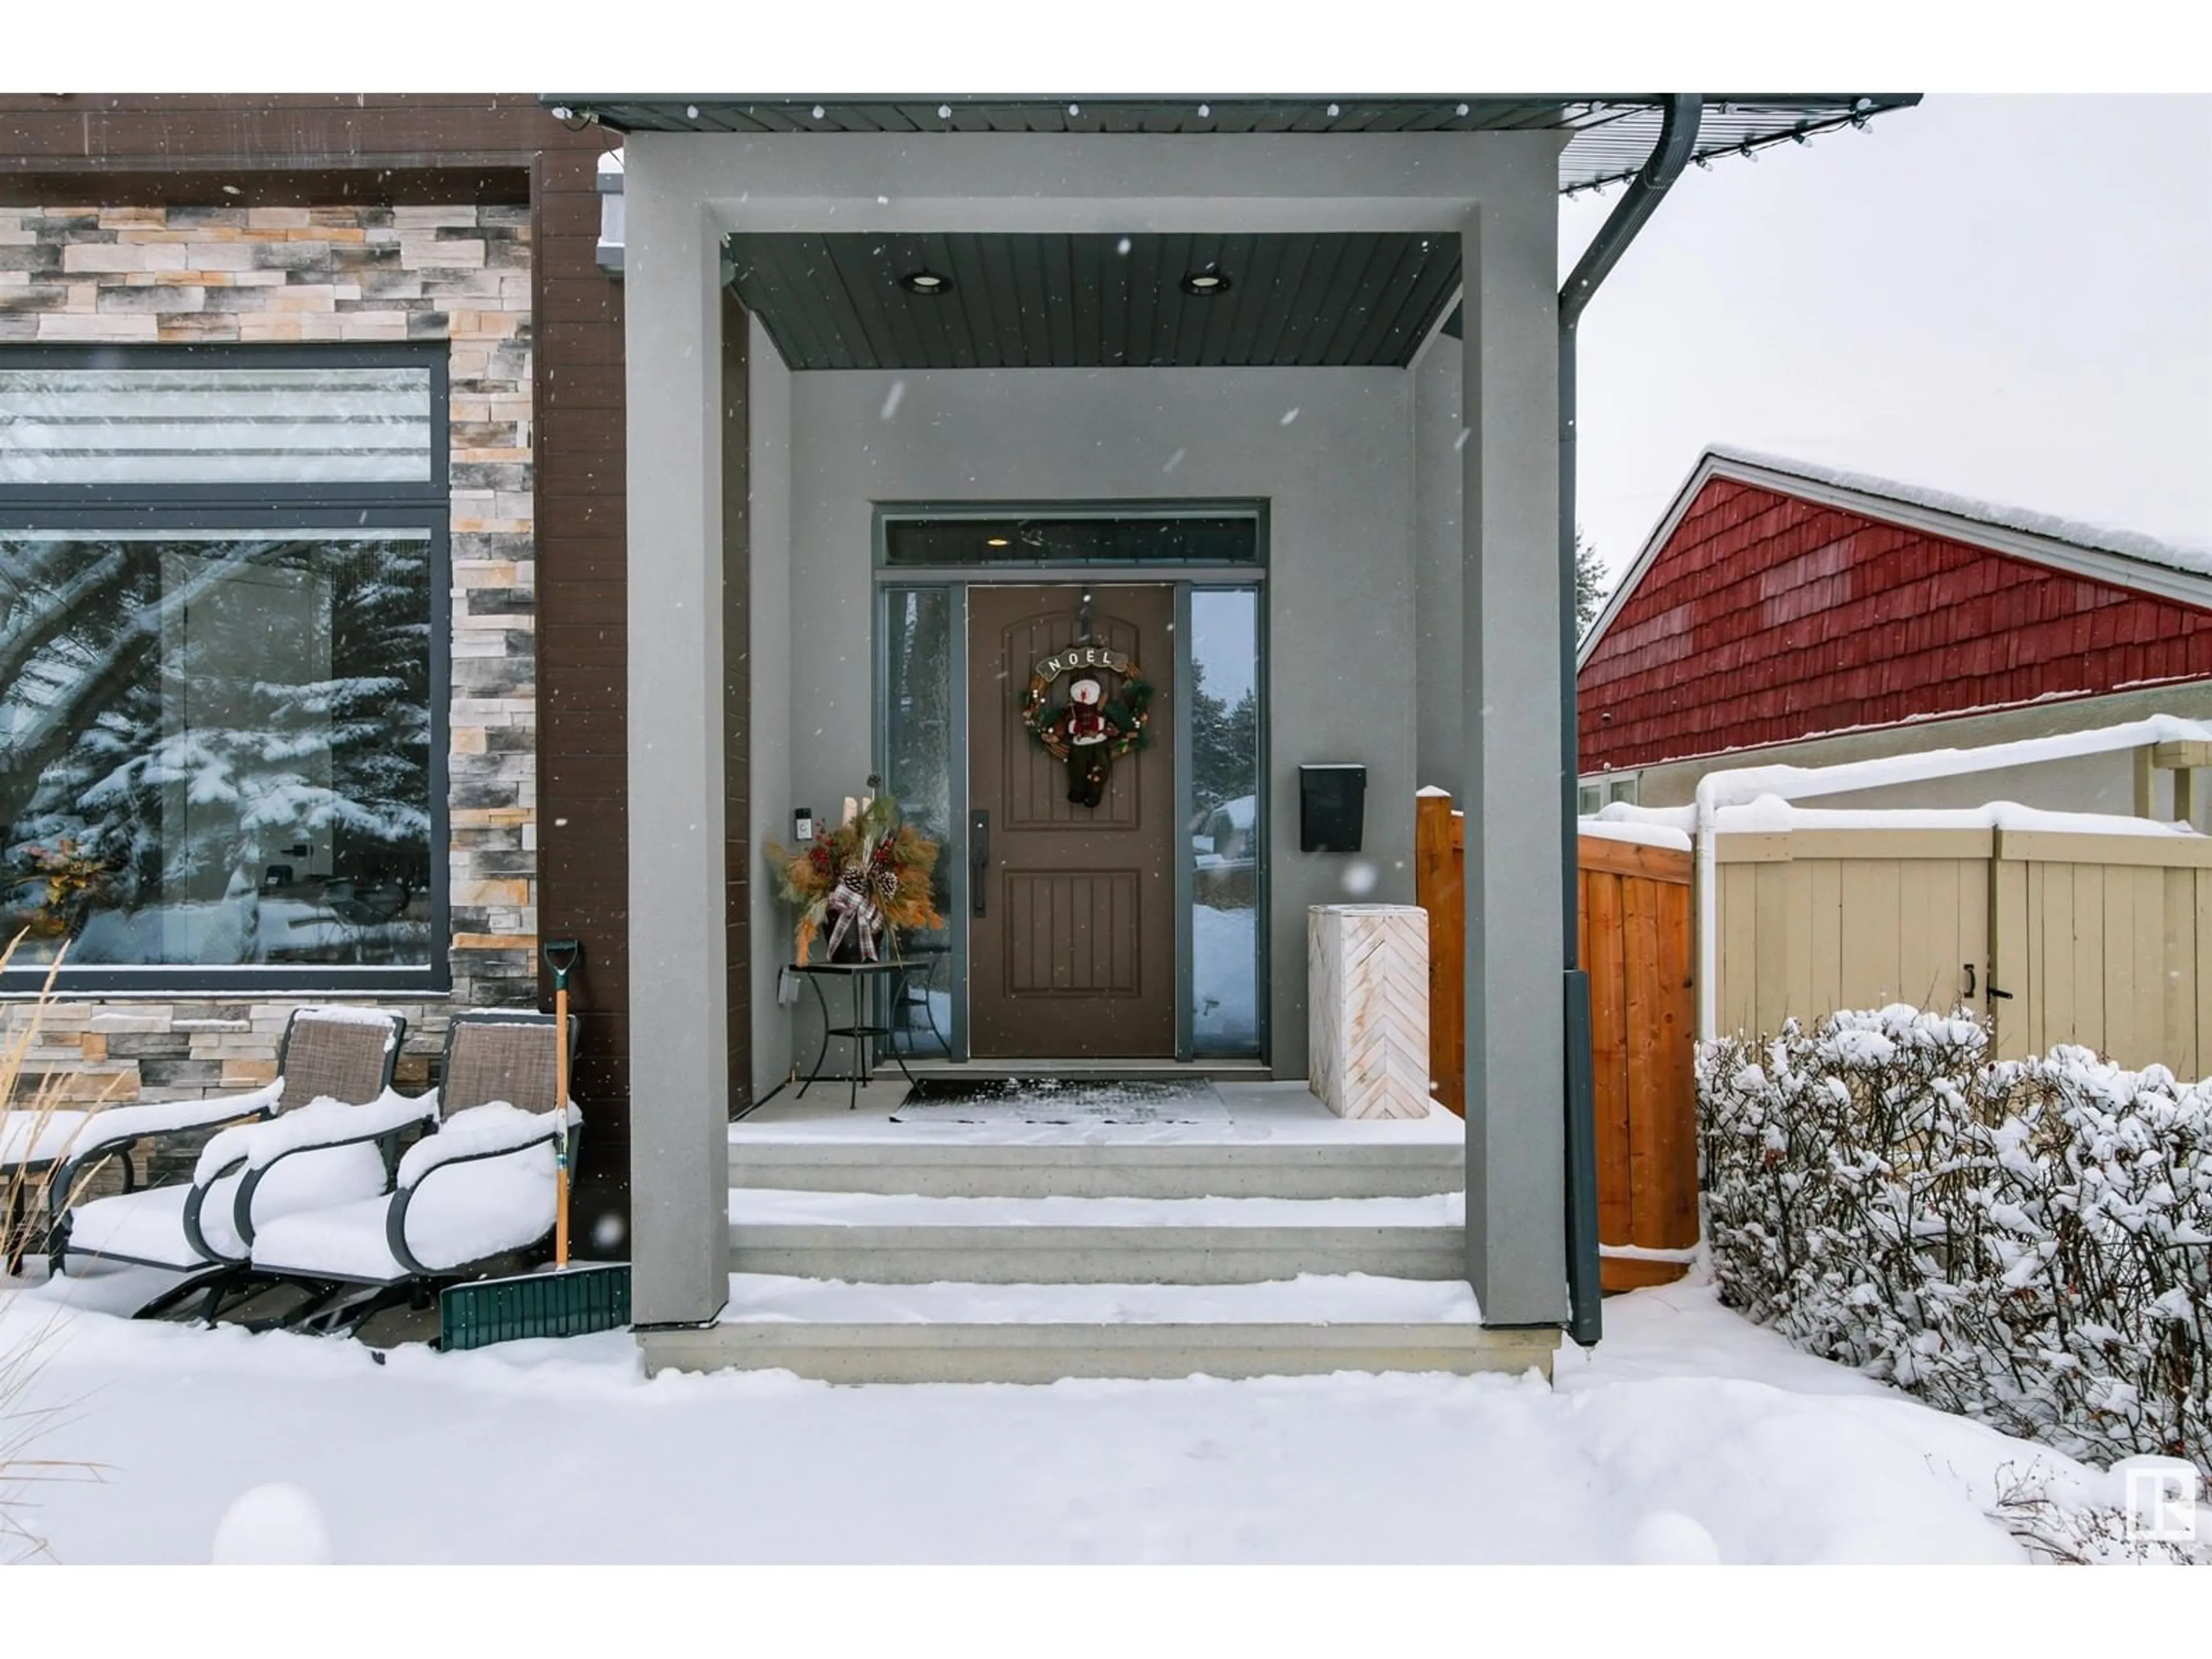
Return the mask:
[[(378, 1192), (398, 1155), (398, 1133), (425, 1115), (420, 1102), (392, 1093), (392, 1066), (405, 1033), (403, 1018), (378, 1009), (296, 1009), (276, 1051), (274, 1084), (228, 1102), (188, 1102), (195, 1108), (228, 1108), (221, 1117), (206, 1110), (192, 1117), (192, 1128), (223, 1128), (201, 1148), (190, 1179), (139, 1188), (126, 1175), (124, 1192), (77, 1201), (93, 1166), (126, 1157), (139, 1139), (179, 1133), (173, 1119), (161, 1119), (166, 1104), (95, 1113), (49, 1177), (53, 1270), (66, 1272), (73, 1256), (170, 1267), (188, 1279), (139, 1312), (166, 1312), (184, 1296), (208, 1290), (212, 1314), (221, 1292), (246, 1270), (246, 1239), (237, 1223), (250, 1172), (246, 1137), (268, 1130), (272, 1144), (312, 1141), (343, 1121), (352, 1130), (374, 1126), (385, 1141), (383, 1155), (374, 1146), (347, 1144), (330, 1157), (294, 1164), (283, 1181), (259, 1192), (263, 1217)], [(128, 1161), (124, 1168), (131, 1170)]]

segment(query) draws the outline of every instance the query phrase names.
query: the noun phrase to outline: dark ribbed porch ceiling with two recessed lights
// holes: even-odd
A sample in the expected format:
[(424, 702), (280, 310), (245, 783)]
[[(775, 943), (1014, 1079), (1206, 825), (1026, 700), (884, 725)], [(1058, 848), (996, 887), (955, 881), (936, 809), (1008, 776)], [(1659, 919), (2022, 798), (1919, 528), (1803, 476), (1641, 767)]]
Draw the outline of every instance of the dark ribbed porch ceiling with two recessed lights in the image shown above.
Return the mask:
[[(1460, 285), (1449, 232), (737, 234), (792, 369), (1402, 367)], [(1190, 294), (1214, 270), (1228, 288)], [(909, 292), (914, 272), (949, 276)]]

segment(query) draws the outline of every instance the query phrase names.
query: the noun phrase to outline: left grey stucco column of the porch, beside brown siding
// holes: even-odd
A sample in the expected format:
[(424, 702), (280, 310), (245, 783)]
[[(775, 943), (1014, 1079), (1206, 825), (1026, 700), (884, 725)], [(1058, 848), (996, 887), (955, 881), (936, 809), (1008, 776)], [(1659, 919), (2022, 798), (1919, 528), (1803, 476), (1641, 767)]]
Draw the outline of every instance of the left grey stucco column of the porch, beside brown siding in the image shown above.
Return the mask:
[(721, 239), (630, 135), (630, 1274), (639, 1325), (730, 1292), (723, 931)]

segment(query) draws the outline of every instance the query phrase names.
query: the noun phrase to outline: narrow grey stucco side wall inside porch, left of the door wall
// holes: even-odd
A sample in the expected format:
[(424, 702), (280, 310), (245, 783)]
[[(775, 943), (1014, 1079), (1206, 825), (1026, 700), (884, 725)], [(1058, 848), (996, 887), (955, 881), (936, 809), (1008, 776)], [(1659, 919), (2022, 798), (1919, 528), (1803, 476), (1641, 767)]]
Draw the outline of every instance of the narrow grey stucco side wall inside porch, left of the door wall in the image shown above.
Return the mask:
[[(748, 356), (752, 418), (752, 847), (790, 845), (792, 805), (792, 372), (768, 330), (752, 323)], [(792, 1068), (792, 1020), (776, 1002), (776, 975), (790, 960), (790, 929), (776, 922), (776, 885), (765, 863), (752, 887), (752, 1097)]]

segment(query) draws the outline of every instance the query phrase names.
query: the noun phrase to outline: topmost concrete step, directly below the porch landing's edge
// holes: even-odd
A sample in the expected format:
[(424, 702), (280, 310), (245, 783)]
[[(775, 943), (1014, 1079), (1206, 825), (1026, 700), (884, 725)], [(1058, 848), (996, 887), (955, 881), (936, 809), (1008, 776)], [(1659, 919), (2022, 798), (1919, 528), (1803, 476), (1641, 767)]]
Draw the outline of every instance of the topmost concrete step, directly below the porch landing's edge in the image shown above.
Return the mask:
[(1394, 1199), (1460, 1192), (1451, 1139), (772, 1139), (730, 1135), (732, 1188), (940, 1199)]

